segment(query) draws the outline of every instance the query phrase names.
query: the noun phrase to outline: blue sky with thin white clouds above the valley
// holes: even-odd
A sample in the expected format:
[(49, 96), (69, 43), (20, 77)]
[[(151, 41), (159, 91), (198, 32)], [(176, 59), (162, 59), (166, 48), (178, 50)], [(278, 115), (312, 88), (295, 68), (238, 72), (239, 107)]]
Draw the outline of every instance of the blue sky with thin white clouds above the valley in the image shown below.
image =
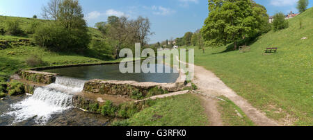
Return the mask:
[[(33, 17), (49, 0), (0, 0), (0, 15)], [(110, 15), (125, 15), (135, 19), (139, 15), (149, 17), (152, 22), (150, 43), (161, 42), (171, 37), (182, 37), (187, 31), (202, 27), (207, 18), (207, 0), (80, 0), (88, 26), (98, 21), (106, 21)], [(255, 0), (268, 10), (275, 12), (297, 12), (298, 0)], [(309, 0), (309, 8), (313, 0)]]

